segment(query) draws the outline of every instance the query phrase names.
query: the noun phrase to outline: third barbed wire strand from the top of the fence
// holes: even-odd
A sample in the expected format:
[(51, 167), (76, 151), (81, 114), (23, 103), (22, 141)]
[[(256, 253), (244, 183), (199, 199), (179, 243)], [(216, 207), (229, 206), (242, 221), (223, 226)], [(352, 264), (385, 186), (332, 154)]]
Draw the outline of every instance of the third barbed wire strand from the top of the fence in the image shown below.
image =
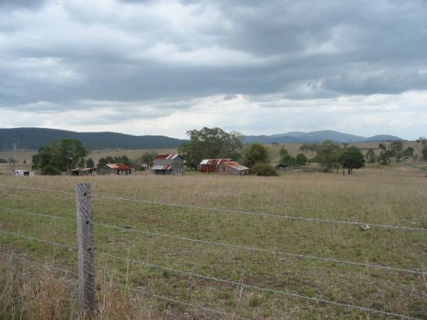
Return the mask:
[[(26, 239), (29, 239), (29, 240), (35, 240), (35, 241), (39, 241), (39, 242), (46, 242), (46, 243), (51, 244), (51, 245), (59, 245), (61, 247), (68, 247), (68, 248), (76, 249), (76, 247), (71, 247), (70, 245), (65, 245), (63, 243), (53, 242), (53, 241), (47, 241), (47, 240), (42, 240), (42, 239), (33, 238), (33, 237), (28, 237), (28, 236), (25, 236), (25, 235), (21, 235), (19, 233), (9, 233), (9, 232), (5, 232), (4, 230), (0, 230), (0, 233), (6, 233), (6, 234), (9, 234), (9, 235), (14, 235), (14, 236), (18, 236), (18, 237), (21, 237), (21, 238), (26, 238)], [(346, 307), (346, 308), (351, 308), (351, 309), (357, 309), (359, 311), (367, 311), (367, 312), (371, 312), (371, 313), (374, 313), (374, 314), (383, 314), (383, 315), (386, 315), (386, 316), (395, 316), (395, 317), (400, 317), (401, 319), (420, 320), (420, 319), (413, 318), (413, 317), (410, 317), (410, 316), (404, 316), (403, 314), (395, 314), (393, 312), (387, 312), (387, 311), (381, 311), (381, 310), (371, 309), (371, 308), (367, 308), (365, 306), (354, 306), (352, 304), (344, 304), (344, 303), (341, 303), (341, 302), (334, 302), (332, 300), (327, 300), (327, 299), (322, 299), (322, 298), (316, 298), (316, 297), (308, 297), (308, 296), (305, 296), (305, 295), (302, 295), (302, 294), (296, 294), (296, 293), (292, 293), (292, 292), (285, 292), (285, 291), (280, 291), (280, 290), (275, 290), (275, 289), (258, 287), (258, 286), (252, 285), (252, 284), (243, 284), (241, 282), (234, 282), (234, 281), (231, 281), (231, 280), (221, 279), (221, 278), (217, 278), (217, 277), (209, 277), (209, 276), (205, 276), (203, 274), (197, 274), (197, 273), (194, 273), (194, 272), (187, 272), (187, 271), (184, 271), (184, 270), (175, 270), (175, 269), (172, 269), (172, 268), (169, 268), (169, 267), (162, 267), (162, 266), (159, 266), (159, 265), (154, 265), (154, 264), (151, 264), (149, 262), (142, 262), (142, 261), (138, 261), (138, 260), (132, 260), (132, 259), (130, 259), (128, 257), (120, 257), (120, 256), (116, 256), (116, 255), (110, 255), (110, 254), (108, 254), (106, 252), (100, 252), (100, 251), (97, 251), (97, 250), (95, 250), (95, 253), (97, 255), (102, 255), (102, 256), (105, 256), (105, 257), (111, 257), (111, 258), (117, 259), (117, 260), (123, 260), (123, 261), (126, 261), (126, 262), (132, 262), (132, 263), (135, 263), (137, 265), (142, 265), (144, 267), (151, 267), (151, 268), (154, 268), (154, 269), (163, 270), (163, 271), (167, 271), (167, 272), (174, 272), (174, 273), (179, 273), (179, 274), (185, 274), (185, 275), (188, 275), (189, 277), (199, 277), (201, 279), (206, 279), (206, 280), (210, 280), (210, 281), (214, 281), (214, 282), (221, 282), (221, 283), (226, 283), (226, 284), (232, 284), (232, 285), (236, 285), (236, 286), (243, 287), (243, 288), (247, 287), (247, 288), (255, 289), (255, 290), (258, 290), (258, 291), (270, 292), (270, 293), (274, 293), (274, 294), (282, 294), (282, 295), (289, 296), (289, 297), (296, 297), (296, 298), (300, 298), (300, 299), (307, 299), (307, 300), (311, 300), (311, 301), (315, 301), (315, 302), (324, 302), (326, 304), (331, 304), (331, 305), (334, 305), (334, 306), (341, 306), (341, 307)]]

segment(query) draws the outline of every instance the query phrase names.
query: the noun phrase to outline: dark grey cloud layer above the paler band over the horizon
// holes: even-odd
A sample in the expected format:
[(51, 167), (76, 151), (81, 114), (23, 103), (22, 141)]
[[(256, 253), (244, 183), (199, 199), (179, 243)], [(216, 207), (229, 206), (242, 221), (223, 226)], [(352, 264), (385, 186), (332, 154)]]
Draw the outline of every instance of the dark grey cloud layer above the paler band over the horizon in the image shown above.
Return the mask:
[(0, 108), (426, 90), (426, 16), (423, 0), (0, 1)]

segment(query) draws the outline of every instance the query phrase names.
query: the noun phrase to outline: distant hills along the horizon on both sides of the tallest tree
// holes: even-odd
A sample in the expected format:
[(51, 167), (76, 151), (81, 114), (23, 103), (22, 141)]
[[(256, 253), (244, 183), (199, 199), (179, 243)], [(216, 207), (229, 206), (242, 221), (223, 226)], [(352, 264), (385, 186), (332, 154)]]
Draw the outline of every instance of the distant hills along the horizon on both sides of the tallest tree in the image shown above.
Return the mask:
[[(176, 148), (187, 140), (174, 139), (164, 136), (133, 136), (116, 132), (73, 132), (59, 129), (44, 128), (12, 128), (0, 129), (0, 149), (11, 147), (16, 143), (19, 149), (38, 149), (50, 144), (55, 139), (78, 139), (87, 149), (160, 149)], [(374, 137), (362, 137), (354, 134), (323, 130), (315, 132), (288, 132), (273, 134), (270, 136), (244, 136), (243, 143), (260, 142), (270, 144), (273, 142), (322, 142), (332, 140), (334, 142), (384, 142), (401, 140), (390, 135), (377, 135)]]

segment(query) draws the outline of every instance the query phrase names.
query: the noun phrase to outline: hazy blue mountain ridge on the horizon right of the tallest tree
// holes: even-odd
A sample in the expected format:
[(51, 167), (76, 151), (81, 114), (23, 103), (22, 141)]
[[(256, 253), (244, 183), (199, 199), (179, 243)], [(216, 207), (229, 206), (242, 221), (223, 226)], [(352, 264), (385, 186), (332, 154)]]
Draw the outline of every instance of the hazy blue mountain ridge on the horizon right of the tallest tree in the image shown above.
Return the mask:
[(325, 140), (332, 140), (333, 142), (385, 142), (394, 140), (403, 140), (399, 137), (379, 134), (374, 137), (362, 137), (354, 134), (347, 134), (337, 132), (333, 130), (321, 130), (314, 132), (287, 132), (284, 134), (273, 134), (271, 136), (245, 136), (243, 137), (243, 143), (251, 144), (253, 142), (259, 142), (262, 144), (268, 144), (273, 142), (278, 143), (290, 143), (290, 142), (324, 142)]

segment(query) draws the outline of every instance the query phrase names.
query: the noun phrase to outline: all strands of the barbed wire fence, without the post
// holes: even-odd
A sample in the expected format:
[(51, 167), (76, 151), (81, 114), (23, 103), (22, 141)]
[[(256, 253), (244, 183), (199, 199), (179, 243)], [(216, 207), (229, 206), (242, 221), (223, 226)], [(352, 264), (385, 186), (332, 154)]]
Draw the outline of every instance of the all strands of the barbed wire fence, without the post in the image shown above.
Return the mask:
[[(33, 188), (33, 187), (27, 187), (27, 186), (14, 186), (14, 185), (6, 185), (6, 184), (1, 184), (1, 183), (0, 183), (0, 186), (4, 186), (4, 187), (8, 187), (8, 188), (23, 188), (23, 189), (28, 189), (28, 190), (32, 190), (32, 191), (43, 191), (43, 192), (64, 193), (64, 194), (75, 195), (75, 193), (70, 192), (70, 191), (57, 191), (57, 190), (51, 190), (51, 189), (47, 189), (47, 188)], [(292, 217), (292, 216), (287, 216), (287, 215), (276, 215), (276, 214), (270, 214), (270, 213), (253, 213), (253, 212), (241, 211), (241, 210), (228, 210), (228, 209), (219, 209), (219, 208), (209, 208), (209, 207), (203, 207), (203, 206), (187, 206), (187, 205), (179, 205), (179, 204), (174, 204), (174, 203), (164, 203), (164, 202), (157, 202), (157, 201), (144, 201), (144, 200), (122, 198), (122, 197), (115, 197), (115, 196), (102, 196), (102, 195), (97, 195), (97, 194), (93, 194), (93, 193), (88, 193), (88, 196), (92, 196), (94, 198), (114, 200), (114, 201), (133, 201), (133, 202), (146, 203), (146, 204), (157, 205), (157, 206), (172, 206), (172, 207), (177, 207), (177, 208), (191, 208), (191, 209), (196, 209), (196, 210), (217, 211), (217, 212), (225, 212), (225, 213), (238, 213), (238, 214), (244, 214), (244, 215), (259, 215), (259, 216), (270, 217), (270, 218), (285, 218), (285, 219), (292, 219), (292, 220), (308, 220), (308, 221), (320, 222), (320, 223), (343, 223), (343, 224), (347, 224), (347, 225), (360, 225), (361, 224), (361, 223), (357, 223), (357, 222), (349, 222), (349, 221), (344, 221), (344, 220), (327, 220), (327, 219), (318, 219), (318, 218)], [(20, 213), (20, 214), (24, 214), (24, 215), (33, 215), (33, 216), (38, 216), (38, 217), (43, 217), (43, 218), (65, 220), (65, 221), (73, 222), (73, 223), (76, 222), (76, 220), (73, 218), (60, 217), (60, 216), (56, 216), (56, 215), (48, 215), (46, 213), (36, 213), (33, 211), (20, 210), (17, 208), (9, 208), (9, 207), (1, 206), (0, 210), (9, 211), (11, 213)], [(89, 221), (87, 223), (89, 223)], [(197, 242), (197, 243), (200, 243), (203, 245), (215, 245), (215, 246), (221, 246), (221, 247), (231, 247), (231, 248), (236, 249), (236, 250), (249, 250), (252, 252), (264, 252), (264, 253), (273, 254), (273, 255), (284, 255), (284, 256), (289, 256), (289, 257), (318, 260), (318, 261), (323, 261), (323, 262), (336, 262), (336, 263), (340, 263), (343, 265), (353, 265), (353, 266), (357, 266), (357, 267), (377, 268), (380, 270), (393, 271), (393, 272), (406, 272), (406, 273), (410, 273), (410, 274), (420, 274), (422, 276), (427, 275), (427, 272), (424, 270), (404, 269), (404, 268), (399, 268), (399, 267), (391, 267), (391, 266), (386, 266), (386, 265), (375, 265), (375, 264), (364, 263), (364, 262), (352, 262), (352, 261), (338, 260), (338, 259), (334, 259), (334, 258), (330, 258), (330, 257), (317, 257), (314, 255), (304, 255), (304, 254), (300, 254), (297, 252), (280, 252), (280, 251), (276, 251), (276, 250), (268, 250), (268, 249), (261, 248), (261, 247), (249, 247), (249, 246), (245, 246), (245, 245), (236, 245), (236, 244), (216, 242), (216, 241), (211, 241), (211, 240), (199, 240), (199, 239), (194, 239), (194, 238), (186, 238), (186, 237), (182, 237), (179, 235), (169, 235), (166, 233), (157, 233), (157, 232), (153, 232), (153, 231), (149, 231), (149, 230), (125, 228), (125, 227), (121, 227), (118, 225), (109, 225), (109, 224), (105, 224), (105, 223), (97, 223), (97, 222), (90, 222), (90, 223), (92, 225), (97, 225), (97, 226), (100, 226), (102, 228), (111, 228), (111, 229), (115, 229), (115, 230), (122, 230), (122, 231), (126, 231), (126, 232), (131, 232), (131, 233), (142, 233), (144, 235), (152, 235), (152, 236), (157, 236), (157, 237), (162, 237), (162, 238), (171, 238), (171, 239), (176, 239), (176, 240), (184, 240), (184, 241), (188, 241), (188, 242)], [(380, 225), (380, 224), (368, 224), (368, 225), (378, 227), (378, 228), (399, 228), (399, 229), (405, 230), (405, 231), (422, 231), (422, 232), (427, 231), (427, 229), (425, 229), (425, 228), (411, 228), (411, 227), (405, 227), (405, 226), (399, 226), (399, 225)], [(43, 240), (40, 238), (32, 237), (30, 235), (24, 235), (22, 233), (14, 233), (14, 232), (11, 232), (9, 230), (0, 230), (0, 233), (2, 233), (4, 235), (9, 235), (11, 237), (23, 238), (26, 240), (31, 240), (31, 241), (36, 241), (36, 242), (43, 242), (46, 245), (56, 245), (58, 247), (63, 247), (63, 248), (66, 248), (68, 250), (77, 250), (77, 247), (74, 245), (69, 245), (69, 244), (61, 243), (61, 242), (55, 242), (55, 241), (51, 241), (51, 240)], [(190, 277), (190, 278), (204, 279), (204, 280), (207, 280), (209, 282), (218, 282), (218, 283), (222, 283), (222, 284), (229, 284), (232, 286), (238, 286), (238, 287), (241, 287), (242, 289), (247, 288), (247, 289), (253, 289), (256, 291), (260, 291), (260, 292), (268, 292), (270, 294), (280, 294), (280, 295), (284, 295), (284, 296), (288, 296), (288, 297), (295, 297), (298, 299), (304, 299), (304, 300), (311, 301), (311, 302), (325, 303), (325, 304), (330, 304), (332, 306), (342, 307), (342, 308), (346, 308), (346, 309), (355, 309), (355, 310), (359, 310), (359, 311), (366, 311), (366, 312), (369, 312), (372, 314), (380, 314), (382, 316), (392, 316), (392, 317), (397, 317), (400, 319), (416, 319), (416, 318), (413, 318), (411, 316), (406, 316), (404, 314), (397, 314), (397, 313), (393, 313), (393, 312), (389, 312), (389, 311), (371, 309), (369, 307), (364, 307), (364, 306), (357, 306), (357, 305), (353, 305), (353, 304), (335, 302), (335, 301), (332, 301), (329, 299), (323, 299), (320, 297), (310, 297), (310, 296), (307, 296), (304, 294), (298, 294), (295, 292), (285, 292), (282, 290), (271, 289), (268, 287), (260, 287), (260, 286), (253, 285), (253, 284), (245, 284), (243, 282), (236, 282), (236, 281), (233, 281), (230, 279), (223, 279), (221, 277), (211, 277), (211, 276), (205, 275), (205, 274), (199, 274), (199, 273), (195, 273), (195, 272), (189, 272), (186, 270), (174, 269), (172, 267), (155, 265), (155, 264), (152, 264), (149, 262), (130, 259), (129, 257), (122, 257), (120, 255), (112, 255), (110, 253), (102, 252), (99, 250), (95, 250), (95, 252), (97, 255), (100, 255), (102, 257), (106, 257), (109, 259), (120, 260), (123, 262), (132, 263), (135, 265), (140, 265), (142, 267), (154, 268), (156, 270), (162, 270), (164, 272), (172, 272), (172, 273), (176, 273), (176, 274), (181, 274), (181, 275), (184, 275), (184, 276)], [(17, 255), (14, 255), (14, 256), (19, 257)], [(54, 267), (54, 266), (52, 266), (52, 267)], [(58, 269), (58, 267), (55, 267), (55, 268)], [(68, 272), (68, 273), (73, 274), (73, 272)], [(120, 287), (120, 284), (118, 284), (118, 286)], [(212, 308), (209, 308), (206, 306), (199, 306), (196, 304), (191, 304), (189, 302), (181, 302), (181, 301), (176, 300), (174, 298), (164, 297), (164, 296), (156, 294), (154, 292), (145, 292), (144, 290), (140, 290), (140, 289), (132, 289), (132, 290), (135, 292), (142, 293), (142, 294), (147, 294), (150, 297), (154, 297), (154, 298), (158, 298), (158, 299), (164, 299), (164, 300), (167, 300), (169, 302), (174, 302), (176, 304), (182, 304), (182, 305), (190, 306), (190, 307), (193, 307), (196, 309), (209, 311), (209, 312), (212, 312), (213, 314), (218, 314), (221, 316), (227, 316), (227, 317), (235, 318), (235, 319), (246, 319), (246, 318), (238, 316), (236, 314), (229, 314), (227, 312), (219, 311), (217, 309), (212, 309)]]

